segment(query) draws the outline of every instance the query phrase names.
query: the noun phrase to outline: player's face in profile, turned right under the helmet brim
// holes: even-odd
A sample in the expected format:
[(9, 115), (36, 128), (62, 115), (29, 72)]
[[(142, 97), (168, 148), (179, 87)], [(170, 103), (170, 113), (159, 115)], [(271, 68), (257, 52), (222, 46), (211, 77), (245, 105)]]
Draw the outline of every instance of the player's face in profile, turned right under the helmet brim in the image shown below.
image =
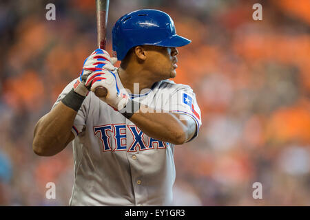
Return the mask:
[(152, 46), (147, 51), (147, 65), (150, 71), (158, 77), (158, 80), (176, 77), (176, 62), (178, 62), (178, 50), (176, 47)]

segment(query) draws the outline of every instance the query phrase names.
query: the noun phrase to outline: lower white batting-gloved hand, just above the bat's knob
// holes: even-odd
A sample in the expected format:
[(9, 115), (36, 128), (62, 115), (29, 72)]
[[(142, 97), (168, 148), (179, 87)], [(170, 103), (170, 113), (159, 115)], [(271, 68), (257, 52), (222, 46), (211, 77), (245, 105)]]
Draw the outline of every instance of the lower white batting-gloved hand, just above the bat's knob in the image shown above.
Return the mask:
[(105, 87), (107, 96), (100, 98), (116, 110), (123, 109), (130, 100), (125, 89), (120, 89), (121, 85), (116, 82), (115, 74), (107, 70), (97, 70), (87, 77), (85, 85), (91, 87), (94, 92), (96, 87)]

